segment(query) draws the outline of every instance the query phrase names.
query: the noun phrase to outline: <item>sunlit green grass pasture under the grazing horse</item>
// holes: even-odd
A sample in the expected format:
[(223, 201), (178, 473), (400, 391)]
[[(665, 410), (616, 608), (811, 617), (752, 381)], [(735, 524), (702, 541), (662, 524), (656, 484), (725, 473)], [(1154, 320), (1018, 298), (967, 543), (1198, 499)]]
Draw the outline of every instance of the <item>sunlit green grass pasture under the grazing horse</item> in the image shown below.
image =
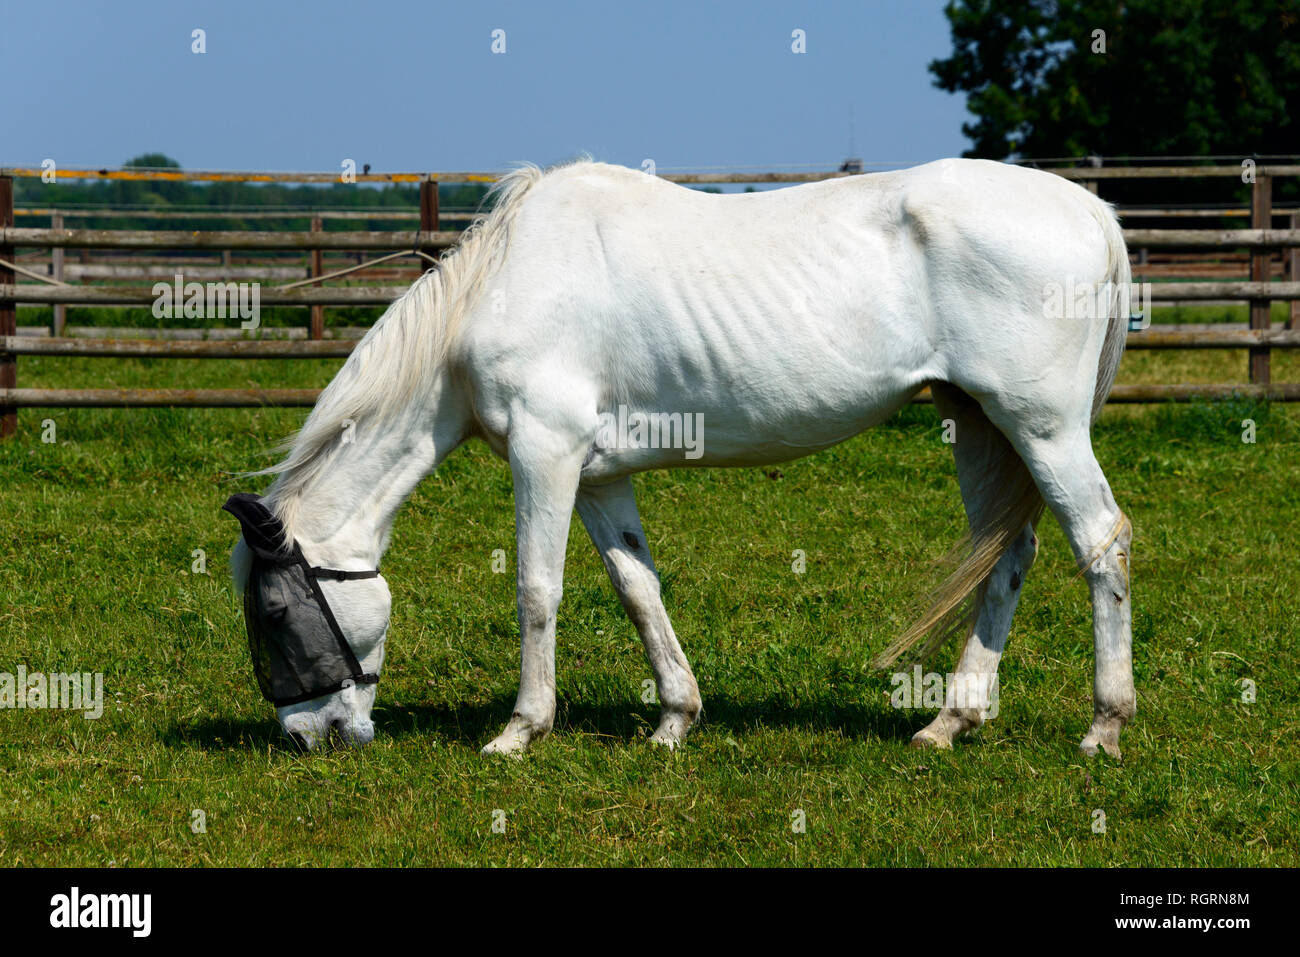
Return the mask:
[[(23, 358), (20, 385), (306, 387), (338, 364)], [(1119, 381), (1244, 365), (1131, 352)], [(1275, 352), (1274, 377), (1297, 381), (1295, 356)], [(462, 449), (385, 557), (374, 742), (300, 755), (252, 681), (225, 567), (238, 528), (218, 508), (260, 488), (230, 473), (269, 464), (304, 415), (21, 412), (0, 443), (0, 671), (103, 672), (105, 710), (0, 710), (0, 863), (1300, 865), (1300, 408), (1113, 406), (1097, 424), (1134, 523), (1139, 714), (1122, 761), (1078, 752), (1091, 610), (1050, 518), (998, 716), (950, 753), (907, 748), (933, 713), (890, 707), (867, 662), (963, 525), (928, 406), (779, 468), (636, 480), (705, 698), (675, 753), (644, 740), (649, 666), (575, 518), (555, 732), (521, 761), (480, 757), (519, 680), (514, 564), (491, 568), (494, 549), (514, 557), (514, 515), (508, 468)]]

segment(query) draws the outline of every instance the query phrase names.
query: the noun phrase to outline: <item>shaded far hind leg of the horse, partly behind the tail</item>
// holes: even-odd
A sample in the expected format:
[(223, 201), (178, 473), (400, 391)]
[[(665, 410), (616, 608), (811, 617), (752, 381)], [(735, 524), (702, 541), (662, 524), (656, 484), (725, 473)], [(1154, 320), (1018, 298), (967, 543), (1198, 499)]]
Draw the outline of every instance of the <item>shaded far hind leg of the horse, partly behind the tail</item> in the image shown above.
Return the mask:
[[(931, 386), (935, 406), (954, 426), (953, 458), (957, 481), (971, 531), (997, 507), (998, 478), (1006, 469), (1023, 468), (1006, 437), (988, 420), (979, 404), (956, 386)], [(911, 739), (914, 748), (953, 746), (953, 739), (997, 716), (997, 668), (1011, 629), (1015, 606), (1026, 575), (1039, 551), (1034, 523), (1027, 523), (993, 571), (982, 583), (975, 601), (974, 628), (966, 637), (957, 670), (944, 694), (939, 716)]]

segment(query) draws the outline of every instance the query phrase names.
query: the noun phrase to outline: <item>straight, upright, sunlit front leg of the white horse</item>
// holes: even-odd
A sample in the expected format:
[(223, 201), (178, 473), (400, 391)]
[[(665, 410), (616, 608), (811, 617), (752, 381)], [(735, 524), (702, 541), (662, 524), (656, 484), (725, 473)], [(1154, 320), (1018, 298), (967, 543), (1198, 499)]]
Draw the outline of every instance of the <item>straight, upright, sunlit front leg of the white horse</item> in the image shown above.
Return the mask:
[(515, 477), (519, 697), (506, 729), (484, 754), (520, 754), (555, 722), (555, 614), (564, 589), (564, 546), (586, 439), (520, 413), (510, 434)]

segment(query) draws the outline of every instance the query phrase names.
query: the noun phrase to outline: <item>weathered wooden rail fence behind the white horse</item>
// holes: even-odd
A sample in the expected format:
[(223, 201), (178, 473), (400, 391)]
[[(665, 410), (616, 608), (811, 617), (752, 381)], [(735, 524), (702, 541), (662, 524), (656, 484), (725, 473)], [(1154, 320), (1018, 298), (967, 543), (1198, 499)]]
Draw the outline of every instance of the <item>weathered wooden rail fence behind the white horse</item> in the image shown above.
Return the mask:
[[(1096, 190), (1098, 179), (1117, 178), (1192, 178), (1240, 177), (1240, 166), (1113, 166), (1052, 169), (1058, 176), (1083, 182)], [(1248, 384), (1218, 385), (1117, 385), (1112, 402), (1186, 400), (1192, 398), (1225, 398), (1251, 395), (1277, 400), (1300, 400), (1300, 384), (1274, 384), (1270, 381), (1270, 352), (1274, 348), (1300, 347), (1300, 322), (1295, 321), (1300, 304), (1300, 222), (1296, 211), (1287, 209), (1290, 229), (1274, 229), (1273, 179), (1300, 176), (1300, 165), (1260, 165), (1254, 170), (1249, 229), (1128, 229), (1124, 238), (1139, 263), (1135, 274), (1141, 274), (1149, 251), (1200, 251), (1231, 257), (1244, 255), (1249, 263), (1248, 281), (1213, 282), (1160, 282), (1152, 286), (1154, 302), (1249, 302), (1249, 322), (1245, 328), (1152, 328), (1135, 332), (1128, 338), (1130, 348), (1247, 348)], [(332, 278), (325, 269), (326, 252), (403, 252), (437, 256), (454, 246), (459, 233), (441, 230), (442, 218), (464, 218), (463, 213), (439, 215), (439, 182), (491, 182), (490, 173), (396, 173), (358, 174), (358, 182), (412, 182), (420, 185), (419, 212), (354, 212), (338, 211), (338, 218), (385, 218), (419, 221), (417, 229), (337, 231), (324, 230), (324, 213), (307, 211), (224, 212), (194, 209), (186, 216), (194, 218), (256, 217), (256, 218), (312, 218), (309, 231), (295, 230), (103, 230), (65, 229), (60, 220), (51, 228), (17, 228), (14, 225), (13, 177), (39, 177), (39, 169), (0, 169), (0, 438), (17, 428), (20, 407), (242, 407), (242, 406), (311, 406), (316, 390), (302, 389), (20, 389), (17, 359), (21, 355), (43, 356), (143, 356), (185, 359), (286, 359), (286, 358), (342, 358), (355, 346), (364, 329), (338, 330), (335, 338), (325, 338), (324, 307), (326, 306), (387, 306), (406, 291), (399, 286), (325, 286)], [(60, 170), (61, 178), (99, 179), (164, 179), (190, 182), (337, 182), (329, 173), (205, 173), (182, 170)], [(663, 178), (690, 185), (722, 183), (798, 183), (848, 176), (848, 173), (693, 173), (668, 174)], [(27, 211), (31, 212), (31, 211)], [(38, 211), (51, 217), (99, 216), (99, 211)], [(114, 211), (121, 216), (139, 216), (129, 211)], [(1148, 216), (1157, 211), (1134, 211)], [(1188, 213), (1225, 216), (1247, 211), (1193, 209)], [(1154, 217), (1152, 217), (1154, 218)], [(44, 248), (52, 251), (52, 282), (18, 282), (9, 264), (17, 264), (16, 248)], [(83, 338), (64, 334), (61, 321), (66, 306), (150, 306), (156, 295), (152, 289), (112, 285), (72, 286), (62, 278), (148, 278), (147, 272), (131, 265), (110, 265), (107, 272), (70, 270), (62, 252), (75, 250), (131, 250), (155, 252), (217, 251), (224, 255), (224, 278), (234, 280), (240, 273), (230, 263), (230, 251), (294, 251), (309, 256), (306, 268), (312, 289), (260, 287), (260, 302), (265, 306), (299, 306), (309, 308), (309, 324), (304, 333), (285, 335), (290, 330), (260, 330), (259, 338), (235, 329), (176, 330), (182, 334), (202, 334), (204, 338)], [(1273, 280), (1271, 256), (1283, 251), (1283, 278)], [(1290, 255), (1286, 255), (1290, 251)], [(1239, 260), (1240, 261), (1240, 260)], [(421, 269), (424, 268), (421, 263)], [(18, 267), (31, 273), (30, 269)], [(268, 267), (261, 267), (265, 270)], [(125, 270), (125, 272), (124, 272)], [(69, 273), (73, 273), (72, 276)], [(244, 276), (254, 273), (244, 272)], [(257, 273), (261, 274), (261, 273)], [(39, 273), (31, 273), (35, 278)], [(213, 276), (220, 276), (213, 273)], [(274, 272), (266, 278), (287, 278), (291, 272)], [(27, 277), (25, 277), (27, 278)], [(296, 285), (296, 283), (295, 283)], [(1286, 328), (1273, 328), (1270, 306), (1273, 300), (1292, 302), (1292, 320)], [(17, 303), (52, 304), (56, 317), (52, 335), (30, 334), (34, 330), (17, 328)], [(122, 330), (126, 332), (126, 330)], [(156, 333), (155, 333), (156, 334)], [(282, 337), (283, 338), (278, 338)]]

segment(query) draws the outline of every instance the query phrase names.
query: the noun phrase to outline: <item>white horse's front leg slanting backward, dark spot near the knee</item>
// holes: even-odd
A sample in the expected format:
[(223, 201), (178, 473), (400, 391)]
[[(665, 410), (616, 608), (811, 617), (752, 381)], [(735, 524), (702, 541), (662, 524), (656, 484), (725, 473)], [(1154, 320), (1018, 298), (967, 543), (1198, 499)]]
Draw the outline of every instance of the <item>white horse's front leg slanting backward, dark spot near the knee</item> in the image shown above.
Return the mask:
[(677, 644), (659, 596), (659, 575), (641, 528), (632, 480), (580, 486), (577, 512), (601, 553), (614, 590), (636, 625), (654, 670), (663, 710), (650, 740), (676, 748), (699, 719), (702, 703), (696, 676)]

